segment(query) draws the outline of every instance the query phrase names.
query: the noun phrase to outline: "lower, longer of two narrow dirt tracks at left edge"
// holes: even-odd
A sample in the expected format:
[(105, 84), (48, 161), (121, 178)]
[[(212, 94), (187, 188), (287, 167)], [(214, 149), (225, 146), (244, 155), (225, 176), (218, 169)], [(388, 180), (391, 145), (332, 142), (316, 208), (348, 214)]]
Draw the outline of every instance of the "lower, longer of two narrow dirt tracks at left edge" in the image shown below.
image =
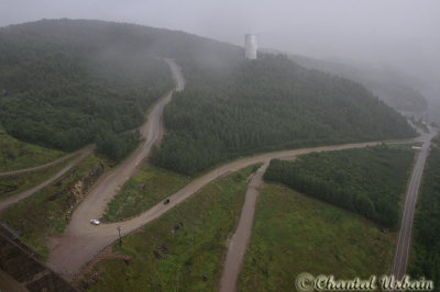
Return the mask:
[(55, 180), (57, 180), (58, 178), (61, 178), (62, 176), (64, 176), (64, 173), (66, 173), (67, 171), (69, 171), (73, 167), (75, 167), (76, 165), (78, 165), (84, 158), (86, 158), (87, 156), (89, 156), (92, 151), (95, 150), (95, 145), (89, 146), (87, 148), (84, 148), (79, 151), (76, 151), (75, 154), (79, 153), (79, 156), (77, 158), (75, 158), (70, 164), (68, 164), (66, 167), (64, 167), (62, 170), (59, 170), (55, 176), (53, 176), (52, 178), (50, 178), (48, 180), (40, 183), (38, 186), (21, 192), (21, 193), (16, 193), (13, 194), (11, 196), (8, 196), (3, 200), (0, 200), (0, 211), (7, 209), (8, 206), (10, 206), (11, 204), (14, 204), (16, 202), (19, 202), (20, 200), (23, 200), (34, 193), (36, 193), (37, 191), (40, 191), (41, 189), (45, 188), (46, 186), (51, 184), (52, 182), (54, 182)]

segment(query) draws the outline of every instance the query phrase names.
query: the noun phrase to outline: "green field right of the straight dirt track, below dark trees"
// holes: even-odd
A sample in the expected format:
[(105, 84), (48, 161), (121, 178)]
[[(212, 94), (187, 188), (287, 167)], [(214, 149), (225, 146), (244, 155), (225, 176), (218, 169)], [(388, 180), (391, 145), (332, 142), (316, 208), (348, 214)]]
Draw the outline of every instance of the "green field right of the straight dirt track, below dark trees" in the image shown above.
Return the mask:
[(384, 274), (393, 262), (395, 236), (353, 213), (266, 184), (239, 291), (295, 291), (302, 272), (337, 279)]

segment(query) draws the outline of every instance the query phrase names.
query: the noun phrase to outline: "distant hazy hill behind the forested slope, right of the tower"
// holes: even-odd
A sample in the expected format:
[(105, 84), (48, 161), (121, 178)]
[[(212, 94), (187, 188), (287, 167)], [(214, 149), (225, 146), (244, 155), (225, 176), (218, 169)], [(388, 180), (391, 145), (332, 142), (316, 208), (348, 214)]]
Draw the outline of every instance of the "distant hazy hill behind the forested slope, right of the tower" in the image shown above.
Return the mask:
[(349, 61), (330, 61), (290, 55), (298, 64), (317, 70), (350, 78), (377, 96), (389, 106), (405, 112), (425, 112), (428, 102), (408, 78), (393, 68), (374, 67)]

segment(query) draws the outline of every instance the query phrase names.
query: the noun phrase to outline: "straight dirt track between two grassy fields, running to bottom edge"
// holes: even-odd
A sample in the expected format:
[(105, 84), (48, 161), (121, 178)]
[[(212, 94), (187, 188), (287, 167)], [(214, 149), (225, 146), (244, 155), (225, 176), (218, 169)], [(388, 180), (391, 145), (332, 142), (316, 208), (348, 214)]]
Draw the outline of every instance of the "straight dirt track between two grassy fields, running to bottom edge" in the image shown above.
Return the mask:
[(266, 171), (268, 161), (266, 161), (252, 177), (248, 186), (246, 196), (241, 211), (239, 226), (229, 243), (227, 259), (223, 266), (223, 273), (220, 279), (220, 292), (235, 291), (237, 279), (239, 278), (248, 245), (252, 235), (254, 223), (256, 198), (260, 191), (257, 188), (263, 186), (263, 175)]

